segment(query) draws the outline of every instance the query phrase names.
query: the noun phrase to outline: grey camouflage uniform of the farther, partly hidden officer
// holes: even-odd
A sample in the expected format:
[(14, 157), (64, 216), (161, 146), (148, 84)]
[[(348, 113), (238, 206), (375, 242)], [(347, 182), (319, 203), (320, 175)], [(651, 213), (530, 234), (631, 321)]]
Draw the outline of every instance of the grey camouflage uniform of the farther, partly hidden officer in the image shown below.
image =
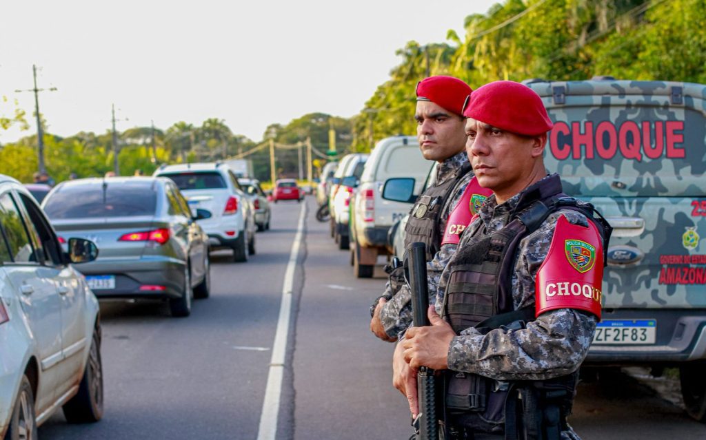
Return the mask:
[[(456, 171), (467, 163), (467, 154), (465, 152), (460, 152), (455, 156), (446, 159), (441, 164), (438, 164), (438, 172), (436, 174), (434, 186), (441, 185), (449, 179), (454, 178)], [(453, 212), (453, 209), (455, 209), (472, 177), (473, 173), (471, 171), (461, 178), (456, 187), (453, 189), (453, 194), (448, 198), (448, 201), (441, 212), (441, 221), (439, 221), (438, 224), (439, 236), (443, 236), (446, 229), (446, 221), (448, 216), (451, 212)], [(441, 245), (441, 248), (438, 252), (436, 252), (433, 259), (426, 263), (430, 304), (433, 304), (438, 279), (441, 276), (441, 272), (446, 267), (446, 264), (448, 264), (451, 257), (455, 254), (456, 248), (457, 245), (453, 243)], [(392, 296), (392, 298), (390, 298), (390, 300), (388, 300), (388, 302), (386, 302), (381, 308), (380, 319), (387, 334), (394, 337), (400, 334), (400, 332), (405, 331), (405, 329), (412, 324), (412, 293), (409, 290), (409, 285), (407, 285), (407, 283), (403, 283), (402, 286), (400, 286), (400, 290), (395, 294), (393, 286), (391, 286), (390, 282), (388, 282), (385, 286), (385, 295), (383, 296), (385, 298)], [(375, 304), (377, 304), (377, 302), (378, 300), (376, 300)]]

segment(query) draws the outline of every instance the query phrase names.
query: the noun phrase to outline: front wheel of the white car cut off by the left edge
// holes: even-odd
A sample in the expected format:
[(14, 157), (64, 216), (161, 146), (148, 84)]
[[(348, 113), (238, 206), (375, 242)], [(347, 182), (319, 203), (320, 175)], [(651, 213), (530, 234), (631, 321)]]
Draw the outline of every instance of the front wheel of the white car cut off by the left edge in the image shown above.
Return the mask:
[(103, 364), (100, 357), (100, 327), (93, 329), (88, 360), (78, 393), (64, 405), (69, 423), (97, 422), (103, 417)]

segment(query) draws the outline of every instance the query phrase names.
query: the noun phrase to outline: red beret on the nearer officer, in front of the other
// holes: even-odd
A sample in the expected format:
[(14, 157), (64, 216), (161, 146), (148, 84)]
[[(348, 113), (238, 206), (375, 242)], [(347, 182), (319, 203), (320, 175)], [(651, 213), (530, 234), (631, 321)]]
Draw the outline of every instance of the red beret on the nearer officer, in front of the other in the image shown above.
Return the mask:
[(526, 136), (541, 135), (554, 127), (539, 94), (514, 81), (495, 81), (478, 87), (463, 116)]

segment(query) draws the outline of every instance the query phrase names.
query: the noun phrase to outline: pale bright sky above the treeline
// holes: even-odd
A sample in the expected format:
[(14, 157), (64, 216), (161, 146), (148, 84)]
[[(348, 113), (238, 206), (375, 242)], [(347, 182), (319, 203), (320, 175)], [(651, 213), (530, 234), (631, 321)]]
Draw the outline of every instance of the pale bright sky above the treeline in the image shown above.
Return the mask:
[[(409, 40), (444, 42), (492, 0), (5, 1), (0, 96), (31, 117), (32, 64), (49, 132), (166, 129), (222, 118), (261, 140), (270, 123), (357, 114)], [(11, 106), (0, 109), (5, 114)], [(36, 133), (0, 130), (0, 142)]]

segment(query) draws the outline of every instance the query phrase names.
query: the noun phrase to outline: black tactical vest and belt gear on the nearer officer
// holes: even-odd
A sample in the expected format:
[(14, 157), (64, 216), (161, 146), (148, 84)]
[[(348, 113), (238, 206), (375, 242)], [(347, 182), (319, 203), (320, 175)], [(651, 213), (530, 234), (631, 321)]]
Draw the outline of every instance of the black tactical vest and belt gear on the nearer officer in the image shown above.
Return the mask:
[[(512, 276), (517, 245), (559, 209), (581, 212), (597, 224), (606, 243), (604, 251), (607, 249), (610, 226), (602, 217), (594, 219), (592, 205), (561, 193), (558, 175), (545, 178), (522, 196), (505, 227), (487, 231), (480, 226), (450, 263), (443, 318), (456, 334), (471, 326), (481, 334), (500, 326), (522, 329), (526, 322), (534, 320), (534, 306), (513, 310)], [(516, 439), (520, 426), (520, 429), (534, 429), (528, 439), (553, 440), (559, 438), (561, 424), (570, 412), (576, 374), (546, 381), (503, 382), (477, 374), (450, 372), (445, 381), (445, 408), (452, 429), (504, 431), (506, 439)], [(548, 401), (548, 394), (542, 390), (551, 390), (554, 401)], [(520, 411), (525, 427), (517, 423), (517, 405), (523, 407)], [(550, 417), (556, 422), (553, 426), (542, 424), (547, 411), (556, 413), (556, 417)], [(528, 425), (528, 418), (539, 421)], [(537, 426), (532, 428), (534, 425)]]

